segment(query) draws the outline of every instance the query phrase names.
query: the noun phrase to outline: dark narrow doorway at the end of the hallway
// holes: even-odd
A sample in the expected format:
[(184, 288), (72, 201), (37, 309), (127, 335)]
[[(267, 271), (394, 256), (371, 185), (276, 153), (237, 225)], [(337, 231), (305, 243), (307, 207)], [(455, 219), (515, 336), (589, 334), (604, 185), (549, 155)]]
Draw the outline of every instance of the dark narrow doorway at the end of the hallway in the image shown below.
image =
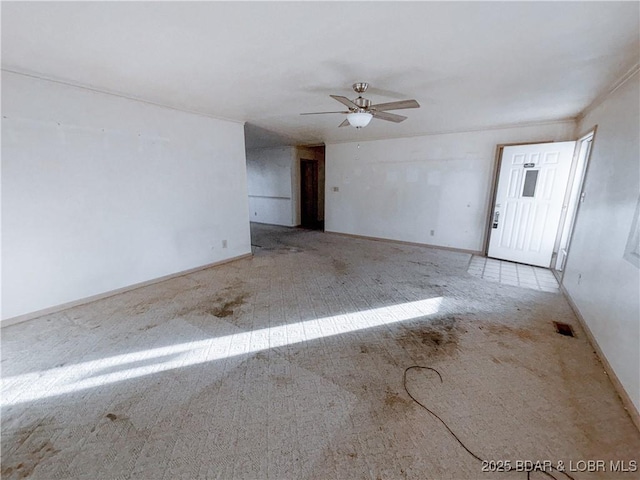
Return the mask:
[(300, 150), (300, 226), (322, 230), (324, 229), (324, 146)]

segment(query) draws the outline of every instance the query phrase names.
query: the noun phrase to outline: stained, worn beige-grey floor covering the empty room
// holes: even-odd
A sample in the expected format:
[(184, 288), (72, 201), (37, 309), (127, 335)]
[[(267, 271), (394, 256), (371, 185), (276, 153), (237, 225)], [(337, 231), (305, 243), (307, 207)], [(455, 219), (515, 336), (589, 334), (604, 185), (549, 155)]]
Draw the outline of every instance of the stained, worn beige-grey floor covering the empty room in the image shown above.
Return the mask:
[(252, 258), (3, 328), (2, 478), (638, 478), (610, 471), (640, 433), (560, 293), (463, 253), (252, 236)]

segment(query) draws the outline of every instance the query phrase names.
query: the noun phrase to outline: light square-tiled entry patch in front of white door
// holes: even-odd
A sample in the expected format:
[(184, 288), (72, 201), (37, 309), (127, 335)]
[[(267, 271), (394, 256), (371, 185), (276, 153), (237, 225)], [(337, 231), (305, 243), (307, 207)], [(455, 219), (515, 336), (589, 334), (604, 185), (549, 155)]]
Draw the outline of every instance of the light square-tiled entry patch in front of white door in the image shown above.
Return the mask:
[(473, 256), (467, 269), (469, 275), (503, 285), (533, 288), (543, 292), (559, 292), (556, 277), (548, 268)]

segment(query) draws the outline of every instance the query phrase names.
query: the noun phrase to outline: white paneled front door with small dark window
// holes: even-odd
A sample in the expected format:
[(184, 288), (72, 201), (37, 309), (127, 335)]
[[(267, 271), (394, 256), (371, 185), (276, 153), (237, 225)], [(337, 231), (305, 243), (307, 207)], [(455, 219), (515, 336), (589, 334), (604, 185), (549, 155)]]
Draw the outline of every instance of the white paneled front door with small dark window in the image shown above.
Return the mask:
[(549, 267), (576, 142), (504, 147), (488, 256)]

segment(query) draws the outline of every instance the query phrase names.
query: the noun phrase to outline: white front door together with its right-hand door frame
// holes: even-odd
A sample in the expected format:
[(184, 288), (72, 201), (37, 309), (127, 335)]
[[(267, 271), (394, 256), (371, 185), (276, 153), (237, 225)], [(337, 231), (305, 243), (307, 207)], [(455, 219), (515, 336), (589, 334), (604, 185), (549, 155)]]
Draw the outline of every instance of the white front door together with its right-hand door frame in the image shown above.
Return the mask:
[(595, 132), (498, 146), (487, 257), (550, 268), (561, 282)]

